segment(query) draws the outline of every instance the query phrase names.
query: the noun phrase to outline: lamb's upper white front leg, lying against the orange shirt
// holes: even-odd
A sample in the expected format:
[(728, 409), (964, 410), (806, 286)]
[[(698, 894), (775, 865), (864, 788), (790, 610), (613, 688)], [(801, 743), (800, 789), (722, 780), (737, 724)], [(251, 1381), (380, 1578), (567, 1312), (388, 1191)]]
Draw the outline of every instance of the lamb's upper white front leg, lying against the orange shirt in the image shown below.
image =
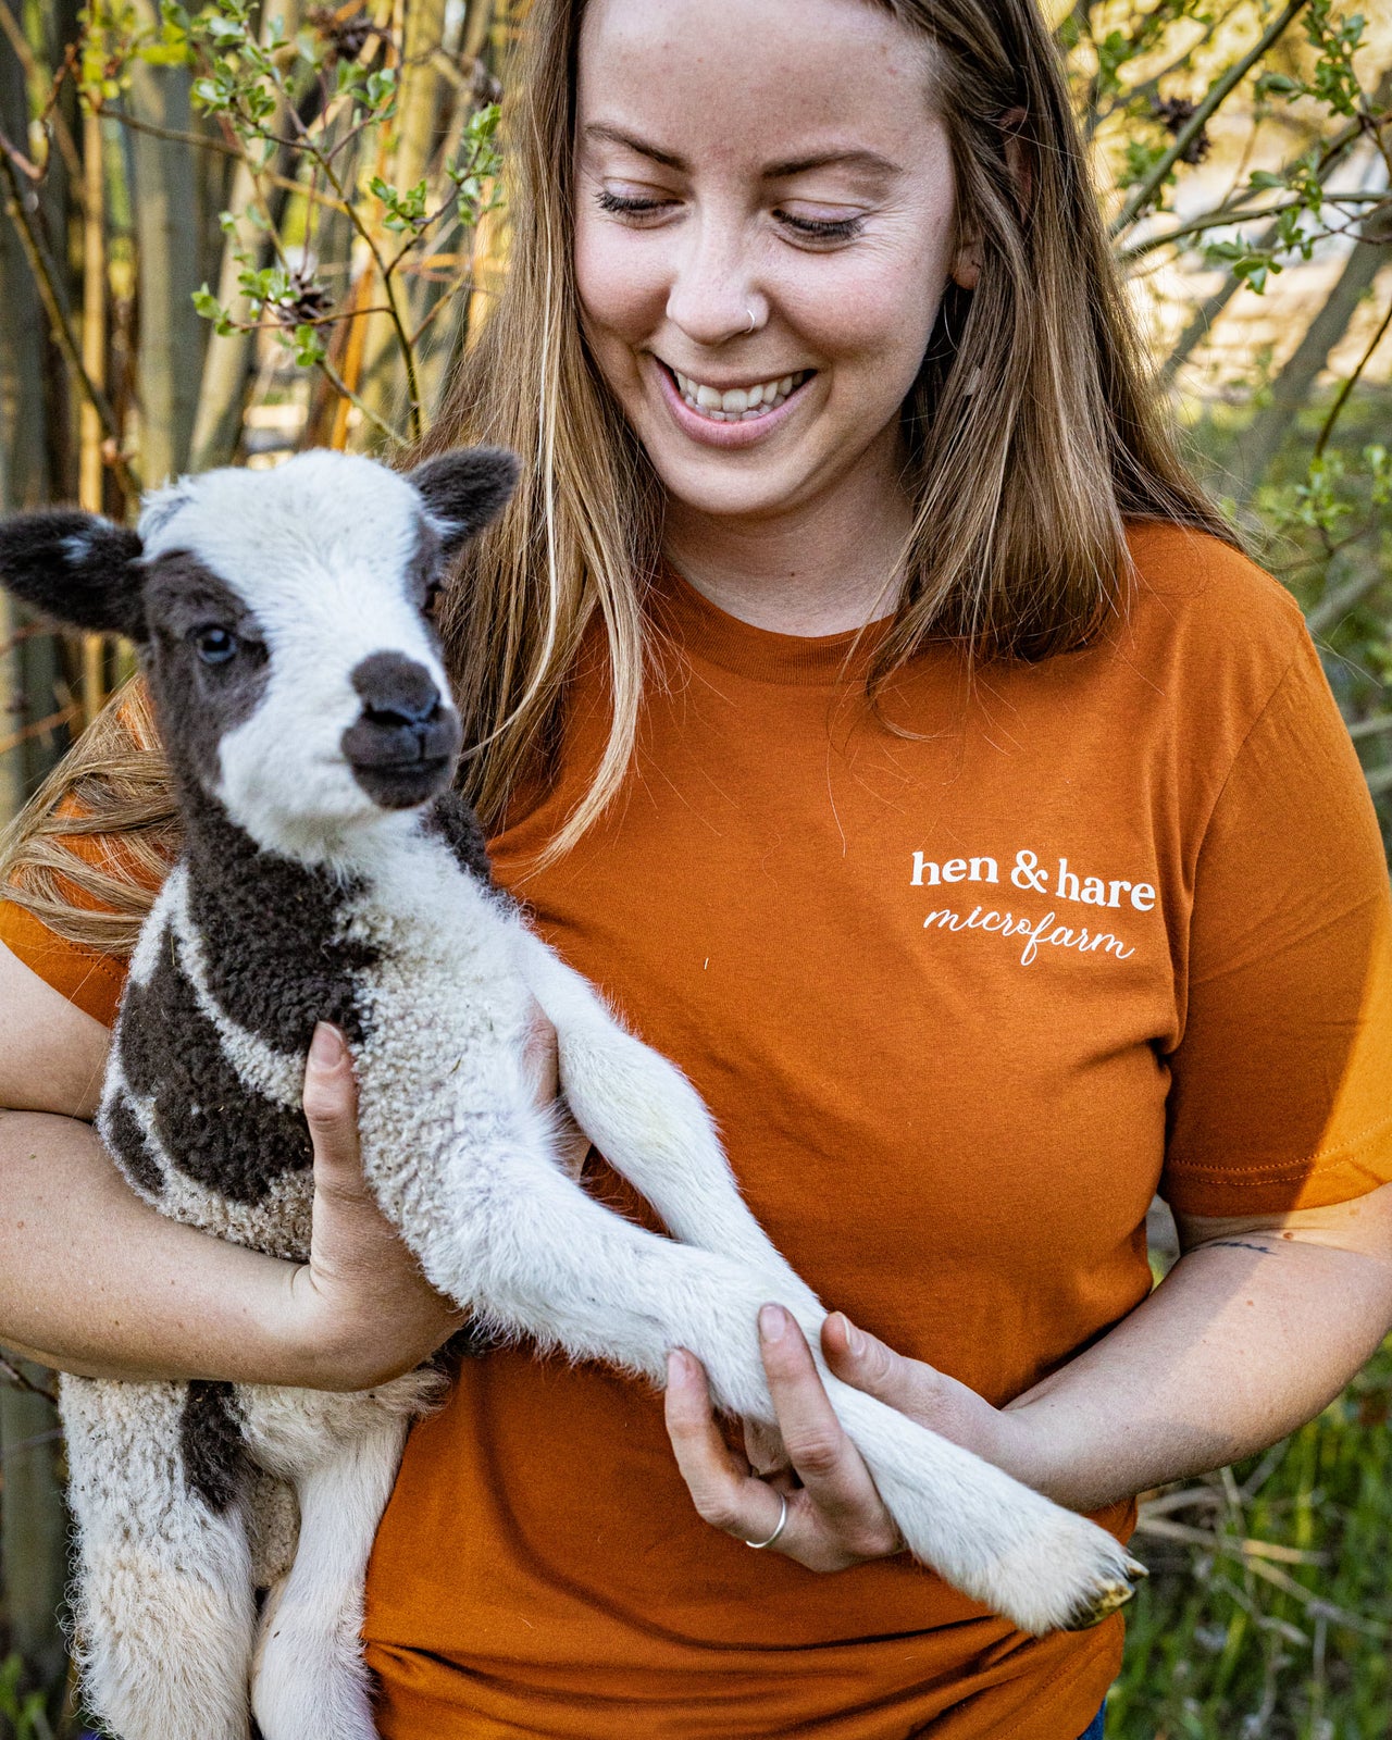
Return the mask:
[(701, 1096), (651, 1046), (614, 1020), (595, 988), (531, 933), (527, 985), (557, 1032), (571, 1112), (673, 1237), (719, 1251), (780, 1282), (780, 1298), (818, 1310), (813, 1289), (745, 1206)]

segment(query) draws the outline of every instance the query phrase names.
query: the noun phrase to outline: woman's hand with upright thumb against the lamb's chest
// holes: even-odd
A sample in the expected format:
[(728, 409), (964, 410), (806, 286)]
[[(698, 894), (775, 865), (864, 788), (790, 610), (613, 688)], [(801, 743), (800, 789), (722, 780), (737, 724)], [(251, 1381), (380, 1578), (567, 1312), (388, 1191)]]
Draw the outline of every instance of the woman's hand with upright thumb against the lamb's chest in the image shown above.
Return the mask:
[(343, 1035), (324, 1021), (303, 1105), (315, 1150), (313, 1225), (308, 1263), (285, 1265), (280, 1333), (324, 1389), (371, 1389), (418, 1366), (463, 1317), (425, 1279), (362, 1176), (353, 1067)]

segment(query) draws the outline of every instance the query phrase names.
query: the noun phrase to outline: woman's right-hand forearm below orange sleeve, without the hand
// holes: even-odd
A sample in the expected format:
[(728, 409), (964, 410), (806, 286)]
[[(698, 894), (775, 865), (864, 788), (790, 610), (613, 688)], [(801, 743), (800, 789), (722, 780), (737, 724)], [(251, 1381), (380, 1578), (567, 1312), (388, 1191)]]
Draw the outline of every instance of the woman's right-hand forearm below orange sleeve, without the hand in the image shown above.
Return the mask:
[(1009, 1404), (1007, 1465), (1075, 1510), (1223, 1467), (1319, 1413), (1390, 1321), (1392, 1265), (1378, 1255), (1279, 1232), (1202, 1244)]

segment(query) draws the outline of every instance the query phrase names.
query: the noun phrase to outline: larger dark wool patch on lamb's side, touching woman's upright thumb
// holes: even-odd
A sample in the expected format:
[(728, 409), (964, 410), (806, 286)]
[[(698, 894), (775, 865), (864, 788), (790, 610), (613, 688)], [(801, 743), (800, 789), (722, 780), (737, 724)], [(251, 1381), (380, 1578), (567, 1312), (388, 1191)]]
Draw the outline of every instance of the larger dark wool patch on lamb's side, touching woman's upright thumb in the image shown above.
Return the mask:
[(120, 1058), (132, 1093), (155, 1101), (155, 1134), (177, 1171), (230, 1202), (263, 1202), (284, 1173), (313, 1162), (303, 1112), (254, 1093), (160, 940), (150, 981), (125, 988)]

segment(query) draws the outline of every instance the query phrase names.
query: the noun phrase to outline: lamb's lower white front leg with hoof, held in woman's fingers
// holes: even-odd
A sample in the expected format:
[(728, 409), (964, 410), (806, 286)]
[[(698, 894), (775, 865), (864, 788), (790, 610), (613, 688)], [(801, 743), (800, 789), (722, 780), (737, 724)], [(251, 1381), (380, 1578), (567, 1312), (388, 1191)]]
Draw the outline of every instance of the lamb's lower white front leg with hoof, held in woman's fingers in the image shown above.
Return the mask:
[[(821, 1310), (781, 1296), (767, 1270), (675, 1244), (600, 1208), (545, 1143), (459, 1148), (440, 1209), (405, 1227), (430, 1281), (480, 1315), (572, 1357), (665, 1380), (666, 1354), (705, 1364), (729, 1413), (774, 1423), (757, 1312), (771, 1293), (818, 1347)], [(1103, 1529), (882, 1402), (828, 1383), (915, 1557), (1025, 1630), (1093, 1623), (1131, 1592), (1131, 1561)]]

